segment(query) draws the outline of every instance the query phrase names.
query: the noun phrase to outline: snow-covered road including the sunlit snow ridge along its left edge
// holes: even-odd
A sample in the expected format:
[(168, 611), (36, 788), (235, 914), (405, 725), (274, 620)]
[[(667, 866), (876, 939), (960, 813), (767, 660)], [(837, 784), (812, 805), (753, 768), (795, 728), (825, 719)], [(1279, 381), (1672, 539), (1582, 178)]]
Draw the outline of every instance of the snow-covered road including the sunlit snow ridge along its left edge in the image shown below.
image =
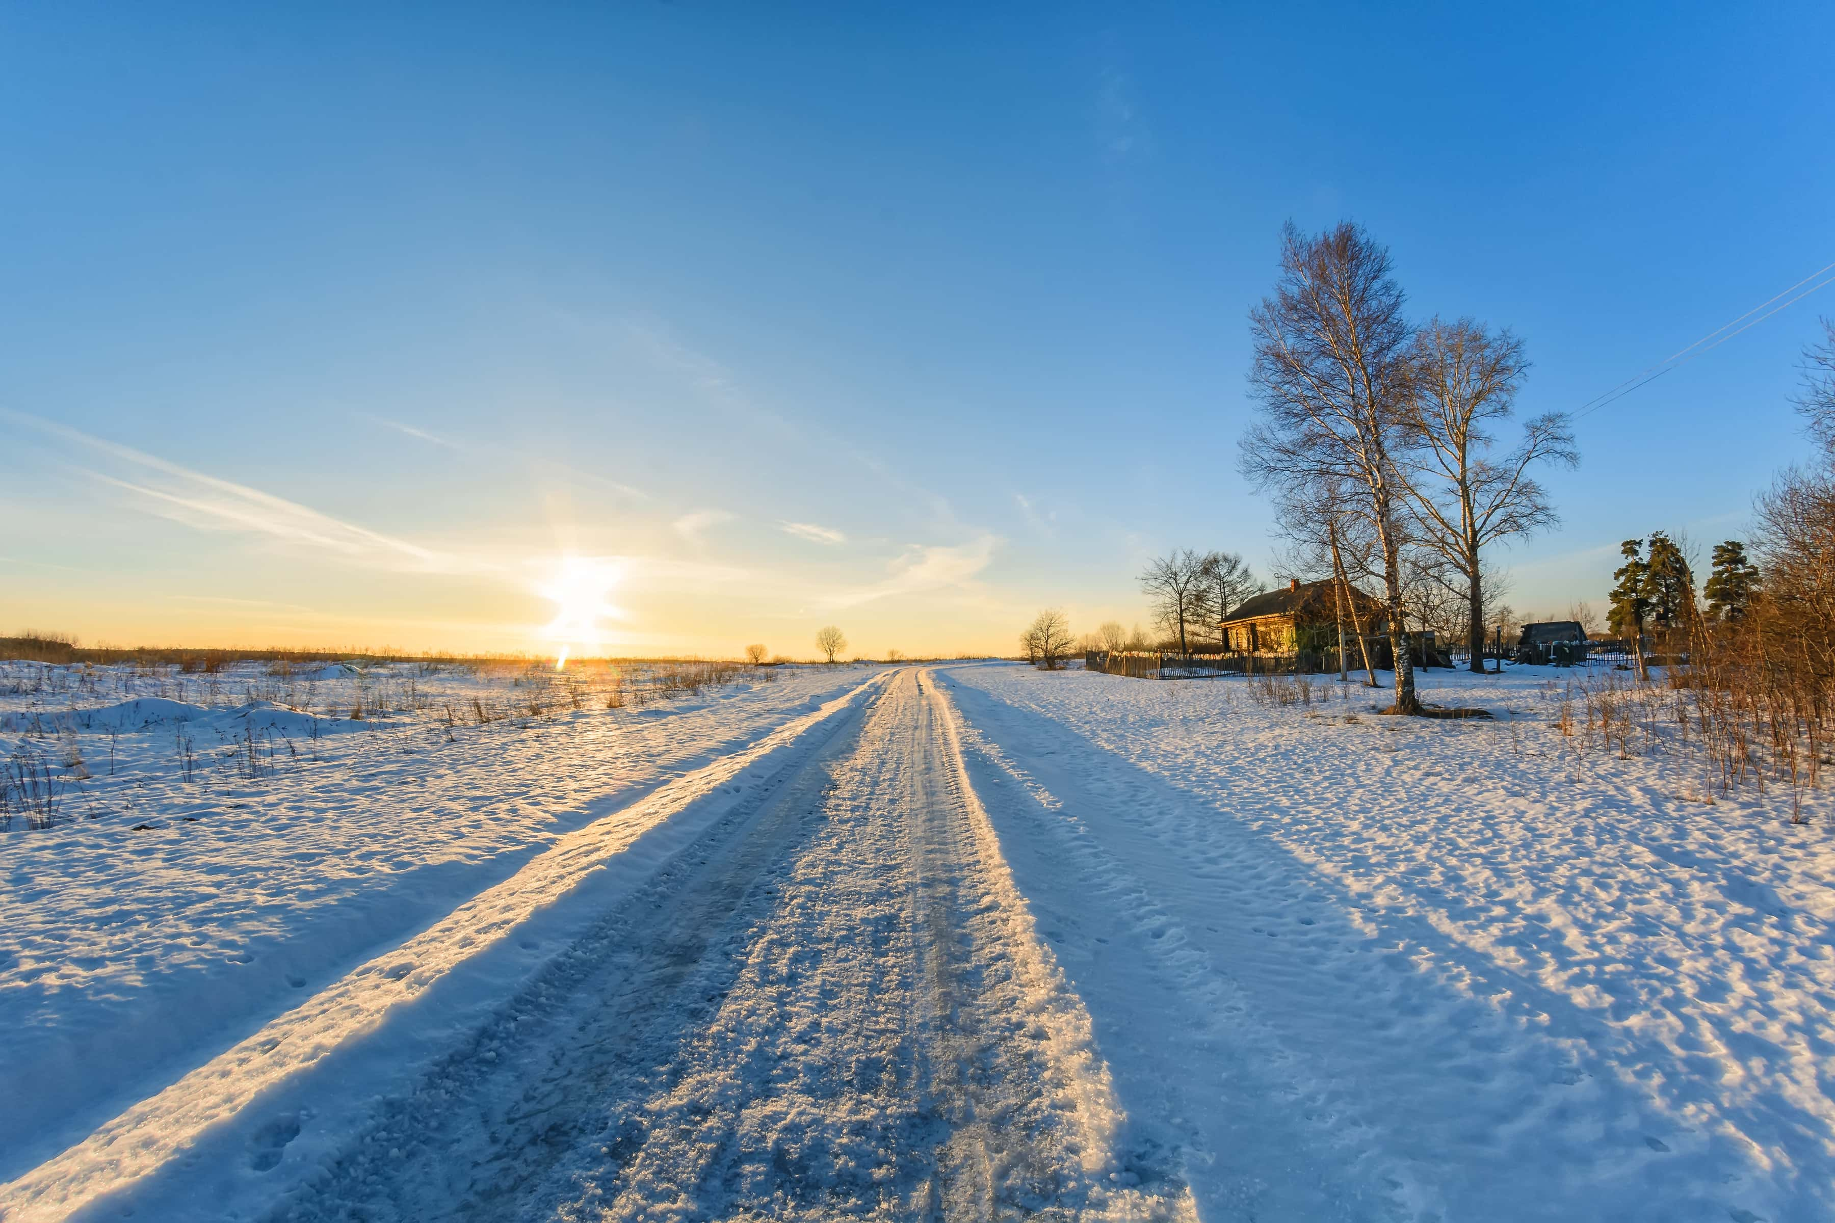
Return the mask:
[[(778, 755), (728, 761), (740, 801), (648, 878), (569, 897), (591, 920), (538, 968), (455, 963), (374, 1030), (325, 1021), (358, 996), (303, 1007), (319, 1018), (257, 1034), (215, 1087), (204, 1067), (0, 1210), (1191, 1217), (1178, 1153), (1127, 1124), (1013, 887), (934, 677), (835, 706)], [(404, 948), (400, 977), (429, 975), (462, 928)], [(268, 1041), (312, 1040), (319, 1056), (248, 1098), (224, 1085)]]

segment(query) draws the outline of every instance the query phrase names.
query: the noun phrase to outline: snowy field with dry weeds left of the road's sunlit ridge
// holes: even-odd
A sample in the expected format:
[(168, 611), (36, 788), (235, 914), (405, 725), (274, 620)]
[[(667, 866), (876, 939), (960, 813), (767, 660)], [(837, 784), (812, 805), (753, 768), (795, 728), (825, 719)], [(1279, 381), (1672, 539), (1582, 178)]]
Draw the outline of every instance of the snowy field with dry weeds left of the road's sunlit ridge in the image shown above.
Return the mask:
[(650, 691), (639, 669), (622, 708), (600, 680), (576, 710), (519, 666), (0, 664), (6, 746), (55, 787), (50, 829), (15, 809), (0, 832), (0, 1179), (866, 673), (767, 675)]

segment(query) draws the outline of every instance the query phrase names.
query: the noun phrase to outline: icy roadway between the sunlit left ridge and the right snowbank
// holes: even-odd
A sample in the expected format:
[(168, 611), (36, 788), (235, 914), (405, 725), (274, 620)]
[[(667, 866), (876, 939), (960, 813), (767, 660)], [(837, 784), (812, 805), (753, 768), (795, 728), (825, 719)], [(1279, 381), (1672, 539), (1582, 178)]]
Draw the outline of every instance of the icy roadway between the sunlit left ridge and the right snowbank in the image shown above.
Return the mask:
[(906, 671), (862, 721), (273, 1217), (1191, 1217), (1123, 1150), (947, 704)]

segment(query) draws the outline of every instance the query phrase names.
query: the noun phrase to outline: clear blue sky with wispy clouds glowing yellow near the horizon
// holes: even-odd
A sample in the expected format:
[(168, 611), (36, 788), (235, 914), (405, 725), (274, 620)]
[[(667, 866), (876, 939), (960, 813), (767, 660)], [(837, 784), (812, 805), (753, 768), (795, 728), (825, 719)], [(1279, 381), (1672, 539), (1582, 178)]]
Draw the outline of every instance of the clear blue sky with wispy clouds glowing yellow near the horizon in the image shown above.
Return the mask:
[[(0, 629), (1009, 649), (1266, 568), (1288, 218), (1573, 409), (1835, 260), (1828, 6), (0, 7)], [(1811, 297), (1580, 422), (1523, 611), (1738, 535)], [(606, 579), (611, 585), (611, 578)]]

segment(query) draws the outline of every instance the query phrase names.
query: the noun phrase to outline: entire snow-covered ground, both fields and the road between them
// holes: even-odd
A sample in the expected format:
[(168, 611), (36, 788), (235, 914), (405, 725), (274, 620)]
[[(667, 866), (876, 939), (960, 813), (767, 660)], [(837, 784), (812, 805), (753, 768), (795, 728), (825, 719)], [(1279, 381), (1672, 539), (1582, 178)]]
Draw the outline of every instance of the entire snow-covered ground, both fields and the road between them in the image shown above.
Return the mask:
[(1574, 677), (0, 666), (0, 1219), (1835, 1217), (1835, 803)]

